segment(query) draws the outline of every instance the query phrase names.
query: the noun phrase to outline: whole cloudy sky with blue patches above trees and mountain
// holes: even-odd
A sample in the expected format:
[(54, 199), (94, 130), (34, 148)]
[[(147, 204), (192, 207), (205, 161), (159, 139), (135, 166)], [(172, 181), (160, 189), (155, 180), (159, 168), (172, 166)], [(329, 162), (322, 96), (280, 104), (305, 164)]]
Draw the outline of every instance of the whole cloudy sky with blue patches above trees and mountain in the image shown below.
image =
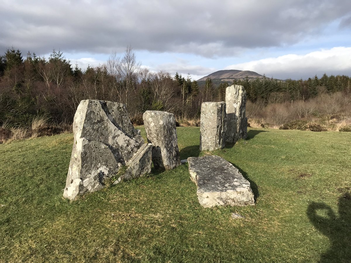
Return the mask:
[(351, 76), (350, 0), (0, 0), (0, 24), (0, 55), (56, 49), (83, 70), (131, 46), (152, 72), (194, 80), (223, 69)]

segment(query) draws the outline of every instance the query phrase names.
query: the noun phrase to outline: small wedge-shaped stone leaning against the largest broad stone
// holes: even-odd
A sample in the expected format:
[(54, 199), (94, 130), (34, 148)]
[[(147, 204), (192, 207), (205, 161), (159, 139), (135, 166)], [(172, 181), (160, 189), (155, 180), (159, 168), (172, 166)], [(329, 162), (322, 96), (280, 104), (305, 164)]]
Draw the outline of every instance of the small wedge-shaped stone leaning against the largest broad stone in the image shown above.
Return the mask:
[(122, 180), (131, 180), (150, 174), (152, 162), (152, 144), (144, 143), (143, 146), (133, 155), (126, 163), (126, 170), (114, 184), (121, 182)]

